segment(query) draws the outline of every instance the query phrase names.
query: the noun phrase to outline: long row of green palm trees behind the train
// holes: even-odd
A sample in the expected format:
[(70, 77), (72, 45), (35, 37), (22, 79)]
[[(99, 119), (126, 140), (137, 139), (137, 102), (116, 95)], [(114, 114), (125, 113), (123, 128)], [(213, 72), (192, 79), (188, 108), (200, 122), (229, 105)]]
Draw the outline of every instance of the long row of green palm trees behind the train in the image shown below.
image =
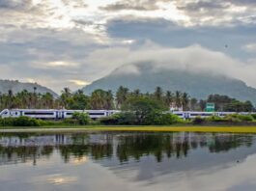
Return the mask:
[(34, 92), (23, 90), (14, 94), (12, 90), (7, 94), (0, 93), (0, 109), (5, 108), (24, 108), (24, 109), (123, 109), (128, 105), (128, 101), (140, 98), (148, 100), (156, 100), (166, 110), (170, 106), (182, 108), (184, 111), (204, 111), (207, 102), (215, 104), (216, 111), (231, 111), (231, 112), (250, 112), (254, 111), (253, 104), (247, 101), (240, 101), (228, 95), (209, 95), (207, 99), (198, 100), (191, 97), (187, 93), (180, 91), (171, 92), (164, 91), (160, 87), (156, 87), (154, 93), (142, 93), (139, 89), (129, 90), (126, 87), (120, 86), (116, 93), (112, 91), (104, 91), (101, 89), (95, 90), (91, 95), (85, 95), (81, 90), (72, 93), (69, 88), (64, 88), (61, 95), (54, 97), (49, 93), (37, 93), (37, 88)]

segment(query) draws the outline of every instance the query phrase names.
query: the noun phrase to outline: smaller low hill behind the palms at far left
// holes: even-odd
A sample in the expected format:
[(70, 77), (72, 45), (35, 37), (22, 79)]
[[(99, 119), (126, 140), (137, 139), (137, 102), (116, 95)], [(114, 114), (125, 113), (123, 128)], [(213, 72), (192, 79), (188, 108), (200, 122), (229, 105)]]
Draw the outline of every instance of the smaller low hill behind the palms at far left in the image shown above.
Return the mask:
[(37, 83), (21, 83), (17, 80), (0, 80), (0, 93), (7, 94), (9, 90), (12, 90), (14, 94), (27, 90), (28, 92), (34, 92), (34, 87), (37, 88), (37, 93), (45, 94), (50, 93), (53, 96), (58, 96), (52, 90), (43, 87)]

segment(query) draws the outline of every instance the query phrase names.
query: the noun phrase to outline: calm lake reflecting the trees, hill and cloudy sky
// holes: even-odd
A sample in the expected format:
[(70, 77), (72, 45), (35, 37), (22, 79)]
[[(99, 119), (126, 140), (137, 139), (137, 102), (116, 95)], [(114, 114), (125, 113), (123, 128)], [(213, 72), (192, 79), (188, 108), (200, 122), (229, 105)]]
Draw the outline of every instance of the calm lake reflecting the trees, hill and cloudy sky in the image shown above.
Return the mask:
[(0, 134), (1, 191), (254, 191), (255, 167), (255, 134)]

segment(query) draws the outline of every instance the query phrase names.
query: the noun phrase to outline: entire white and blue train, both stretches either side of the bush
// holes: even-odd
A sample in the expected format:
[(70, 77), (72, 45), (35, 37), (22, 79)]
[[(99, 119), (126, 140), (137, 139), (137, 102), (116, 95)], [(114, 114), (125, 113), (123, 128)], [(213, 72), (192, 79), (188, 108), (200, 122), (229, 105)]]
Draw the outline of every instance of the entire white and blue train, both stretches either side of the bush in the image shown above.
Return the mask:
[[(112, 116), (114, 114), (120, 113), (120, 110), (56, 110), (56, 109), (4, 109), (0, 112), (0, 118), (18, 118), (20, 116), (26, 116), (35, 119), (42, 120), (61, 120), (71, 118), (75, 113), (88, 113), (91, 119), (97, 120), (100, 118), (105, 118)], [(224, 118), (227, 115), (240, 114), (240, 115), (250, 115), (256, 113), (249, 112), (197, 112), (197, 111), (169, 111), (167, 113), (172, 113), (177, 115), (181, 119), (194, 119), (196, 117), (208, 118), (211, 116), (217, 116)]]

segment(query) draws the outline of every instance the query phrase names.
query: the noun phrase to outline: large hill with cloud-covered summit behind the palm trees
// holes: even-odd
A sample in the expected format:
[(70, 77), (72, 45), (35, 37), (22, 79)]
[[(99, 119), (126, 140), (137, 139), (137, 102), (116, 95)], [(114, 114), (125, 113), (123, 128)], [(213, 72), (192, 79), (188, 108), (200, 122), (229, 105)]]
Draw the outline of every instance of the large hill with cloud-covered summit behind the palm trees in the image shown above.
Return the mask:
[(140, 89), (144, 93), (154, 92), (156, 86), (160, 86), (164, 90), (182, 91), (197, 98), (206, 98), (211, 94), (229, 95), (256, 104), (256, 89), (241, 80), (181, 69), (156, 69), (150, 64), (117, 68), (84, 87), (83, 91), (86, 94), (96, 89), (116, 91), (121, 85), (130, 90)]

